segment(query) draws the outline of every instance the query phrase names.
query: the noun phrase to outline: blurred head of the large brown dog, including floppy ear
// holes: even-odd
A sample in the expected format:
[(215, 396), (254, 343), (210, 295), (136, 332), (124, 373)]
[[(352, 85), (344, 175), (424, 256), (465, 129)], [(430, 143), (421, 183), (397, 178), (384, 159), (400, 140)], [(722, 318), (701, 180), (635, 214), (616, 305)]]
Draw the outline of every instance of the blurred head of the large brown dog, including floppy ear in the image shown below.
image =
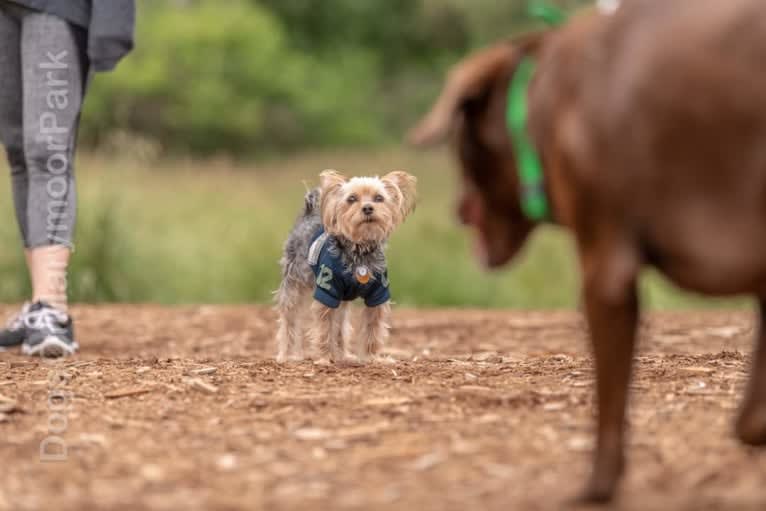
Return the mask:
[[(526, 44), (536, 46), (536, 40)], [(488, 267), (508, 262), (533, 227), (519, 205), (519, 180), (505, 121), (509, 82), (522, 56), (519, 45), (506, 43), (462, 61), (408, 137), (422, 146), (454, 134), (463, 170), (458, 214), (464, 224), (476, 228), (477, 256)]]

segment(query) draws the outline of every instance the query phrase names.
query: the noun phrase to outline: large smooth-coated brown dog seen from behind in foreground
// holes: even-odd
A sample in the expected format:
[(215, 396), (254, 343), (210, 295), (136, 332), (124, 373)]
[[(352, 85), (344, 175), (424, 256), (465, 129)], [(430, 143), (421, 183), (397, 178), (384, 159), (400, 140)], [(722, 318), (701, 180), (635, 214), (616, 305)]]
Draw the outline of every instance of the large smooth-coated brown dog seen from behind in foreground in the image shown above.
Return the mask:
[[(738, 437), (766, 444), (766, 17), (762, 0), (626, 0), (460, 63), (416, 144), (450, 133), (462, 220), (506, 263), (537, 222), (521, 208), (509, 85), (534, 59), (527, 129), (550, 219), (574, 233), (597, 372), (586, 501), (610, 499), (623, 444), (638, 298), (652, 265), (711, 295), (747, 293), (761, 328)], [(702, 425), (700, 425), (702, 427)]]

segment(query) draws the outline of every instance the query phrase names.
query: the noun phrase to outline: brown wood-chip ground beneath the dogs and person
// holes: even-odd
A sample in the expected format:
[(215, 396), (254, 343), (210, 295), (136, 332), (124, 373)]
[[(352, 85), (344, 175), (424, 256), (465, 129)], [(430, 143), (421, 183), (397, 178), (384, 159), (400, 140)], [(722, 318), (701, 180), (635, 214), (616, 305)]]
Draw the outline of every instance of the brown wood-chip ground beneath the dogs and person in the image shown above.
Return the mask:
[[(266, 308), (75, 314), (77, 358), (0, 353), (0, 510), (547, 510), (587, 472), (575, 313), (397, 310), (397, 362), (363, 368), (278, 366)], [(766, 509), (766, 451), (731, 431), (752, 334), (647, 318), (615, 509)]]

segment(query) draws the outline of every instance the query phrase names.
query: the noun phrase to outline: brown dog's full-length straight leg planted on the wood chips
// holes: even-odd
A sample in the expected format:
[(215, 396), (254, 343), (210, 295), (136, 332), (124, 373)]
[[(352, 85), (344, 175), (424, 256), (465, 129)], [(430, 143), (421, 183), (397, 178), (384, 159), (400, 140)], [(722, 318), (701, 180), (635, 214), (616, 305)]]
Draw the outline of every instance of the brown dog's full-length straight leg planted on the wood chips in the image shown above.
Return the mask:
[[(588, 264), (588, 263), (593, 264)], [(638, 264), (629, 254), (585, 261), (585, 311), (596, 364), (598, 432), (584, 503), (609, 501), (624, 470), (625, 410), (638, 324)]]

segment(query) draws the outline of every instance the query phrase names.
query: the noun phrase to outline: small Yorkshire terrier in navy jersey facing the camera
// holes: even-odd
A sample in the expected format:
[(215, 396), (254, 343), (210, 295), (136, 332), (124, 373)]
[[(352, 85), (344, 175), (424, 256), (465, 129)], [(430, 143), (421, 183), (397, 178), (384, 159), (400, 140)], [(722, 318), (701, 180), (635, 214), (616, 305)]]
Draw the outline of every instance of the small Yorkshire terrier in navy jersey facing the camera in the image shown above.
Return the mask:
[[(278, 362), (319, 357), (357, 363), (378, 356), (390, 328), (386, 242), (414, 210), (416, 182), (402, 171), (381, 178), (349, 179), (334, 170), (320, 174), (280, 261)], [(348, 304), (356, 298), (366, 307), (352, 347)]]

